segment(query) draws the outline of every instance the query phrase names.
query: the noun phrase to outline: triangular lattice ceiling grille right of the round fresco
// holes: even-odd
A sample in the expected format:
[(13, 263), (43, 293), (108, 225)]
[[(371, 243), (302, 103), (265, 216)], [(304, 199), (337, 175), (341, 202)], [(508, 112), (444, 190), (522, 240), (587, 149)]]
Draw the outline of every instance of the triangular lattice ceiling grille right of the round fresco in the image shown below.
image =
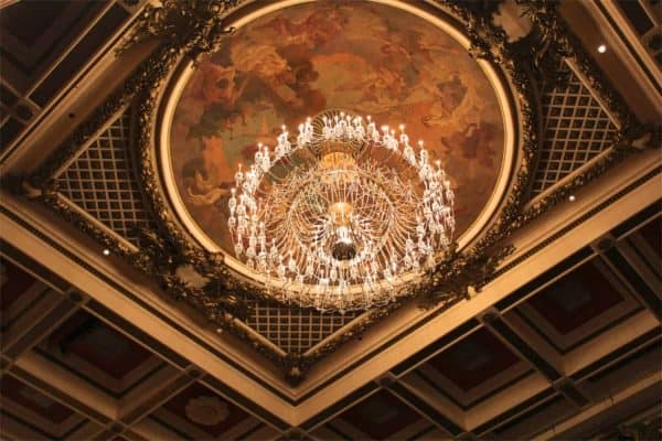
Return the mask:
[(543, 87), (544, 136), (532, 195), (535, 196), (611, 146), (617, 128), (581, 79), (562, 61), (567, 83)]

